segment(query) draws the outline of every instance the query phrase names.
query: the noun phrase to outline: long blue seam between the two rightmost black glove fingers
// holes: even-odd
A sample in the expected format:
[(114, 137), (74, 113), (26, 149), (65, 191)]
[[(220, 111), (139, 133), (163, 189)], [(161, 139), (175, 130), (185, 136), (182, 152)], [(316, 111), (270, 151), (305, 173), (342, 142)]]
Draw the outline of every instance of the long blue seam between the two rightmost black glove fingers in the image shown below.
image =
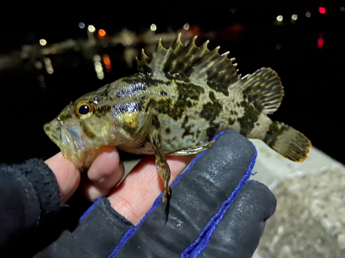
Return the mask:
[(255, 160), (257, 158), (257, 149), (255, 148), (255, 146), (254, 149), (255, 154), (253, 155), (252, 161), (248, 166), (248, 170), (244, 174), (243, 178), (239, 181), (239, 184), (237, 184), (236, 189), (233, 191), (233, 193), (231, 193), (228, 200), (221, 204), (219, 211), (216, 215), (213, 216), (212, 219), (210, 219), (210, 221), (208, 222), (204, 230), (202, 230), (197, 240), (195, 240), (193, 244), (191, 244), (190, 246), (188, 246), (188, 248), (186, 248), (186, 250), (184, 250), (184, 252), (181, 255), (181, 258), (195, 258), (199, 256), (200, 253), (206, 248), (208, 242), (210, 241), (210, 238), (213, 235), (213, 232), (215, 231), (215, 228), (217, 228), (219, 222), (224, 217), (226, 211), (228, 210), (228, 207), (233, 203), (233, 201), (239, 194), (239, 191), (241, 191), (242, 187), (248, 182), (248, 179), (253, 170), (253, 166), (255, 164)]

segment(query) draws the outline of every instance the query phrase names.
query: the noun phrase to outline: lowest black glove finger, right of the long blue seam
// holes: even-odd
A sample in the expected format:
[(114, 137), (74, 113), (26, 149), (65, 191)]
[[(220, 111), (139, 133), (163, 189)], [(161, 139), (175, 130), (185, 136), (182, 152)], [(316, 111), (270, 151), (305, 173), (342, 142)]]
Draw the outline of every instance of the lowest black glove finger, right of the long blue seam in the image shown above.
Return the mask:
[(277, 200), (264, 184), (248, 182), (219, 222), (199, 257), (250, 258), (264, 233)]

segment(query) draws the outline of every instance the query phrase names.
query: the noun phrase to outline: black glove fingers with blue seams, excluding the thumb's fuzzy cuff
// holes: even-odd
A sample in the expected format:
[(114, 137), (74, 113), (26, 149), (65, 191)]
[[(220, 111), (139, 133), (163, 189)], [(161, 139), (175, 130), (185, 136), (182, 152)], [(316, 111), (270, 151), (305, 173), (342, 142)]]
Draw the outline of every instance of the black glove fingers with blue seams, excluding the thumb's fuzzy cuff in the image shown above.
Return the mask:
[(159, 196), (133, 226), (100, 198), (37, 257), (251, 257), (276, 199), (248, 180), (253, 144), (233, 131), (215, 138), (172, 184), (168, 216)]

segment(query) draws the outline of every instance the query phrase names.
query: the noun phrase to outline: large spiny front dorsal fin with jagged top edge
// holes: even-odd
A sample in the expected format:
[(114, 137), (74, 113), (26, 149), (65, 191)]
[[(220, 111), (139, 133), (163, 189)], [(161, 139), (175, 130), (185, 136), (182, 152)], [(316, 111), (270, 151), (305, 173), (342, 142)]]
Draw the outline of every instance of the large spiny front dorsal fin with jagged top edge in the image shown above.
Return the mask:
[(200, 47), (195, 45), (194, 37), (187, 45), (181, 43), (181, 33), (172, 43), (168, 50), (161, 45), (159, 39), (157, 50), (153, 52), (152, 58), (146, 56), (144, 50), (141, 52), (141, 59), (137, 60), (139, 72), (165, 73), (173, 76), (178, 74), (181, 78), (189, 78), (192, 82), (207, 82), (214, 88), (228, 94), (228, 85), (236, 83), (240, 79), (237, 75), (237, 64), (233, 64), (235, 58), (227, 58), (229, 52), (222, 55), (218, 53), (220, 47), (215, 50), (208, 50), (206, 41)]

